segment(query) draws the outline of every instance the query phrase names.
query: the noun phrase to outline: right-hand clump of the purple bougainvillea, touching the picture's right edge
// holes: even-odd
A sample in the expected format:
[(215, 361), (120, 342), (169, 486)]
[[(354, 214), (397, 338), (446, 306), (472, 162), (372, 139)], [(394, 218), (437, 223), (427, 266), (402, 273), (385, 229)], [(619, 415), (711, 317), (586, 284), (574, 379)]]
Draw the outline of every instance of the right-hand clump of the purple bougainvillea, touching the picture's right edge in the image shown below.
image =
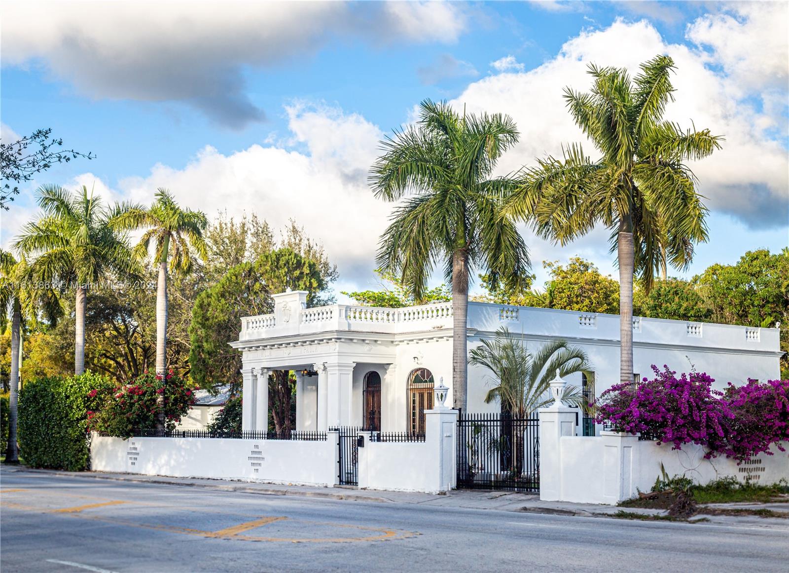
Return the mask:
[(785, 451), (780, 443), (789, 440), (789, 380), (729, 384), (723, 399), (734, 416), (724, 423), (724, 436), (710, 440), (710, 451), (735, 459), (773, 455), (772, 444)]

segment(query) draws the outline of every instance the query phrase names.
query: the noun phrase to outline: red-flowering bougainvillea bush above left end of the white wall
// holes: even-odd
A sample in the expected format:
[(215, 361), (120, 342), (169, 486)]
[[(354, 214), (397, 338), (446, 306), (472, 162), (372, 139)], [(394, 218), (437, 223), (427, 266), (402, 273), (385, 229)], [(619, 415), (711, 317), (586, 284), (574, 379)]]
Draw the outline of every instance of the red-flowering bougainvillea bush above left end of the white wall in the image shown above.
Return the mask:
[[(92, 389), (89, 394), (96, 395)], [(135, 429), (154, 429), (158, 398), (164, 396), (164, 427), (175, 429), (194, 403), (193, 389), (172, 370), (166, 376), (145, 373), (108, 392), (97, 411), (88, 412), (90, 429), (105, 436), (130, 437)]]

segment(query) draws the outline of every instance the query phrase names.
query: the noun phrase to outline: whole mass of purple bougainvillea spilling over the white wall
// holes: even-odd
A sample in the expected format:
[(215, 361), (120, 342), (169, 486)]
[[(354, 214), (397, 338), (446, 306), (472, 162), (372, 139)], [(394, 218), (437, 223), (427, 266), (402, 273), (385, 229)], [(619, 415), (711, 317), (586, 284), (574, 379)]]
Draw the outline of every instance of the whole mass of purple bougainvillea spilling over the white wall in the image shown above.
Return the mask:
[(756, 380), (712, 390), (705, 373), (677, 376), (653, 365), (655, 378), (641, 384), (616, 384), (596, 401), (598, 424), (619, 432), (641, 433), (659, 442), (699, 444), (707, 457), (726, 455), (738, 461), (789, 440), (789, 380)]

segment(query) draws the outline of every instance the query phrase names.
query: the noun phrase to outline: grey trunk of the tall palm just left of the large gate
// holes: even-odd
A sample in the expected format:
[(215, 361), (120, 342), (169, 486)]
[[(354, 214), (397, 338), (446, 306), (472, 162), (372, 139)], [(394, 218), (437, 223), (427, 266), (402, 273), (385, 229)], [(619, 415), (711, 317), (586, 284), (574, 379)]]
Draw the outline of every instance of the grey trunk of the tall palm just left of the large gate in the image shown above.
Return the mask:
[(468, 402), (469, 255), (459, 249), (452, 256), (452, 395), (454, 407), (466, 412)]

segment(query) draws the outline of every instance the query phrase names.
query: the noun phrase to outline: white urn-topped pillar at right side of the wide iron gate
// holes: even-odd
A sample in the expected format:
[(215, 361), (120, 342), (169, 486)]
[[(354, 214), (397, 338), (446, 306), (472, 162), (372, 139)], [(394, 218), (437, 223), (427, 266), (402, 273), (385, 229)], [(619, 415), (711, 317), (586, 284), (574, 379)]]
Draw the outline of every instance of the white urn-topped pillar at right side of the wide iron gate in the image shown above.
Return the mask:
[(562, 496), (562, 436), (575, 435), (575, 408), (565, 406), (561, 396), (567, 384), (559, 377), (551, 380), (555, 399), (540, 408), (540, 500), (556, 501)]

